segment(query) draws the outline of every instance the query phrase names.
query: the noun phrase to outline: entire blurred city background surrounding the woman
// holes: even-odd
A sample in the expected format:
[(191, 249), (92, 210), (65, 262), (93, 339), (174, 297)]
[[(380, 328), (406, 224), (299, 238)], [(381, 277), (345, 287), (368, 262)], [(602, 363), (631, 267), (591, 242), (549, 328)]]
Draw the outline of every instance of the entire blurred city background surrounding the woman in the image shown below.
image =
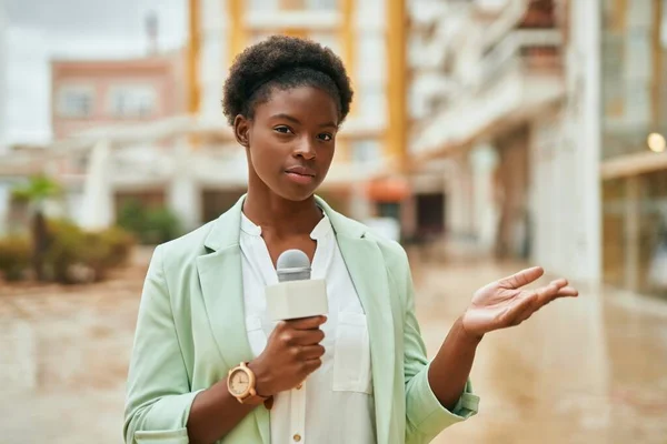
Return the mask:
[(0, 443), (121, 443), (156, 244), (243, 194), (221, 113), (275, 34), (344, 60), (320, 195), (400, 241), (429, 354), (528, 264), (438, 443), (667, 443), (666, 0), (0, 0)]

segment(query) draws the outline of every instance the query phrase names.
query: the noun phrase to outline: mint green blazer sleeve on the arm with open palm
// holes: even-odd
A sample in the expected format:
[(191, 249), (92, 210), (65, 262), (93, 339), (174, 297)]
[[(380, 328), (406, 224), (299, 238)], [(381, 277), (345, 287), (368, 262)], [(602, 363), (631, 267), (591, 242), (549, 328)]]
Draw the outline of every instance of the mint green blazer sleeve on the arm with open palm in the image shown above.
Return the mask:
[[(470, 381), (466, 384), (456, 406), (448, 411), (434, 394), (428, 382), (430, 362), (419, 323), (415, 315), (415, 290), (407, 255), (401, 248), (399, 292), (405, 295), (404, 365), (406, 384), (406, 443), (429, 443), (446, 427), (467, 420), (478, 410), (479, 397), (472, 393)], [(447, 375), (444, 375), (447, 377)]]

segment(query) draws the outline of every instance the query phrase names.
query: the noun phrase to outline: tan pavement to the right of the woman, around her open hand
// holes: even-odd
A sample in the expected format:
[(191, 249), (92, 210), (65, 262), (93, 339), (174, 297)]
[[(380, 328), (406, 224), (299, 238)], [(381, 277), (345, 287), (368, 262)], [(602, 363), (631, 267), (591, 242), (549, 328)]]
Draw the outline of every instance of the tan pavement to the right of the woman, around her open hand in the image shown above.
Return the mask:
[[(521, 268), (415, 263), (430, 355), (477, 287)], [(480, 412), (435, 443), (663, 444), (666, 339), (667, 302), (586, 290), (557, 301), (485, 337), (471, 375)]]

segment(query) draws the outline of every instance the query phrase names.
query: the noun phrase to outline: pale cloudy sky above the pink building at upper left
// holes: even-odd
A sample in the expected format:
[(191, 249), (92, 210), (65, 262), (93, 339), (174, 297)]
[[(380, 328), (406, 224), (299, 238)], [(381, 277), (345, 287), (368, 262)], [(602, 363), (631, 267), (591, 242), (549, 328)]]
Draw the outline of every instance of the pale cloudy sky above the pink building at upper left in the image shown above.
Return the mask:
[(159, 19), (160, 48), (181, 47), (187, 0), (0, 0), (0, 138), (6, 143), (49, 141), (49, 61), (141, 56), (148, 48), (143, 20), (149, 11)]

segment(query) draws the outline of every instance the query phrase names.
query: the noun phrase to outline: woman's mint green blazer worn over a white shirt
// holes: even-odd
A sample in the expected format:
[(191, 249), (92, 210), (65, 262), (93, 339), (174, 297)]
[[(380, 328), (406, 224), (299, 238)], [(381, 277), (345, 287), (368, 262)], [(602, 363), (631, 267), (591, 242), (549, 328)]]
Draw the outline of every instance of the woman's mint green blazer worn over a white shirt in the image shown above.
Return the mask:
[[(243, 199), (216, 221), (153, 253), (128, 376), (128, 444), (187, 444), (186, 424), (198, 392), (253, 357), (245, 325), (239, 248)], [(404, 249), (321, 199), (317, 202), (331, 221), (366, 312), (378, 443), (428, 443), (445, 427), (476, 414), (478, 397), (468, 382), (449, 412), (434, 395)], [(263, 406), (220, 441), (269, 442), (269, 411)]]

